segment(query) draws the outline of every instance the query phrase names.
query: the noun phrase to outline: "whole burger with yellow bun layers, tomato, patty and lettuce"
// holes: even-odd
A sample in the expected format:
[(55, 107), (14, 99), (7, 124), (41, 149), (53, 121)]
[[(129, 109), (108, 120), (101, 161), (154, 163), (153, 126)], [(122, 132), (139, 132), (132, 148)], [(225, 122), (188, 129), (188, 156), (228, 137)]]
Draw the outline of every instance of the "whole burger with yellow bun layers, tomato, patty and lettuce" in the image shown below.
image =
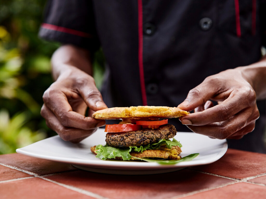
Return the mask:
[(92, 146), (91, 151), (103, 160), (180, 159), (182, 145), (173, 138), (177, 131), (168, 124), (167, 118), (187, 114), (167, 106), (113, 107), (96, 111), (92, 114), (95, 119), (122, 119), (122, 122), (106, 125), (106, 145)]

